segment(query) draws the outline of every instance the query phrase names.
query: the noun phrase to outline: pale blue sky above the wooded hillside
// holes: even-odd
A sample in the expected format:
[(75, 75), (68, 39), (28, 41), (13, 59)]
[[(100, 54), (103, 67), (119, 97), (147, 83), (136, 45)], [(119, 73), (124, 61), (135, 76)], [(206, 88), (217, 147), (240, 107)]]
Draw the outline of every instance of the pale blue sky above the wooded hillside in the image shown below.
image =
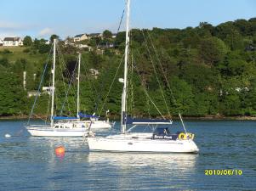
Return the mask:
[[(0, 38), (117, 32), (125, 0), (3, 0)], [(131, 0), (131, 28), (185, 28), (256, 17), (255, 0)], [(124, 30), (124, 20), (121, 31)]]

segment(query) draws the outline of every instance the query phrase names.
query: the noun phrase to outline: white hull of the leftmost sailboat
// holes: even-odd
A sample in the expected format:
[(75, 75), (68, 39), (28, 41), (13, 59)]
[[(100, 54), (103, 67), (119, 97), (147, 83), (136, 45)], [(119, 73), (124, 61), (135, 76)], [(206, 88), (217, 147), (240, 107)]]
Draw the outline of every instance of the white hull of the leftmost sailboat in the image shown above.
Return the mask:
[(50, 126), (27, 126), (26, 129), (31, 136), (36, 137), (84, 137), (88, 135), (86, 128), (54, 129)]

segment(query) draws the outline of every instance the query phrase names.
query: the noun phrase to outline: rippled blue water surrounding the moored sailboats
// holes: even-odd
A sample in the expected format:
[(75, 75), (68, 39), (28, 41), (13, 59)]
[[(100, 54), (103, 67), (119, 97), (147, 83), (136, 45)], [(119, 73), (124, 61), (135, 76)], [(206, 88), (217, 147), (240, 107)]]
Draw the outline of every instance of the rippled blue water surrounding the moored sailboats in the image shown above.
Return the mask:
[[(254, 121), (187, 121), (200, 154), (89, 153), (83, 138), (29, 137), (24, 123), (0, 121), (0, 190), (256, 190)], [(64, 159), (54, 154), (60, 144)], [(242, 176), (206, 176), (206, 169)]]

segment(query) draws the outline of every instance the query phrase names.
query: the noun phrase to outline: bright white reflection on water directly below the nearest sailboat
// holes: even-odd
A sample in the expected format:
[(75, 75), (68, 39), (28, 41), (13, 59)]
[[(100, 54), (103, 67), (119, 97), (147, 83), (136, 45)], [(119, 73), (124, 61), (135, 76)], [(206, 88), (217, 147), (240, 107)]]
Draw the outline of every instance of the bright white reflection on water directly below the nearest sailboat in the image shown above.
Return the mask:
[(90, 164), (105, 163), (108, 166), (153, 168), (192, 171), (195, 168), (198, 154), (139, 154), (139, 153), (104, 153), (91, 152), (88, 154)]

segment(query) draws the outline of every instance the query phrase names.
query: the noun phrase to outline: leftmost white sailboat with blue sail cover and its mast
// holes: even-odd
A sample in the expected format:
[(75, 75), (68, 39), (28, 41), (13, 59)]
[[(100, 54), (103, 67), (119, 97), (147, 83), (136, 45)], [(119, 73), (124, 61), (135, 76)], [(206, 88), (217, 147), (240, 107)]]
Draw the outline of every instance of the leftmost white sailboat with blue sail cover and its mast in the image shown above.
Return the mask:
[[(54, 92), (55, 92), (55, 61), (56, 40), (54, 39), (53, 81), (51, 91), (51, 115), (50, 125), (27, 125), (26, 129), (31, 136), (40, 137), (82, 137), (88, 133), (88, 124), (79, 121), (77, 117), (54, 116)], [(57, 122), (56, 122), (57, 120)]]

